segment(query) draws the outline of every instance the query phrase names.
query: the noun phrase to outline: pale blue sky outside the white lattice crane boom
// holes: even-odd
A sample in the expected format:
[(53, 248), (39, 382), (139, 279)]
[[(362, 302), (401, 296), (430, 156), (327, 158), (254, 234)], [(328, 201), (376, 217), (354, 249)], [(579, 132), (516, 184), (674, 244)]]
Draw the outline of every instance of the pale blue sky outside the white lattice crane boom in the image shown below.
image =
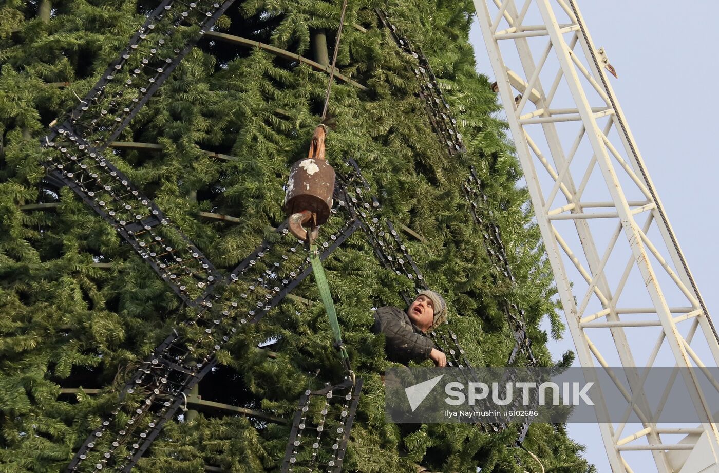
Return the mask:
[[(595, 46), (605, 48), (618, 73), (619, 78), (610, 77), (615, 95), (709, 312), (717, 314), (714, 320), (719, 322), (719, 253), (715, 249), (719, 245), (715, 217), (719, 165), (713, 149), (719, 127), (716, 117), (706, 111), (719, 109), (719, 100), (712, 95), (719, 69), (713, 50), (719, 44), (719, 29), (713, 25), (719, 17), (719, 2), (577, 3)], [(710, 21), (700, 24), (697, 17)], [(476, 24), (470, 39), (477, 69), (491, 78)], [(550, 348), (556, 359), (573, 344), (567, 339)], [(587, 445), (587, 459), (600, 473), (610, 472), (597, 426), (570, 425), (569, 433)]]

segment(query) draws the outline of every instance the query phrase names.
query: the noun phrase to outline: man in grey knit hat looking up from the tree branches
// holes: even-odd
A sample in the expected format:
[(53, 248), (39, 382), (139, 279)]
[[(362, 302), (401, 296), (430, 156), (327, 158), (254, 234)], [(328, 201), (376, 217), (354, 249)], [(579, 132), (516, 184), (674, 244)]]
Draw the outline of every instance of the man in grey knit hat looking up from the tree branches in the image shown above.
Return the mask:
[(444, 298), (434, 290), (423, 290), (406, 312), (385, 306), (375, 311), (375, 334), (385, 334), (385, 352), (390, 361), (407, 364), (431, 359), (436, 367), (444, 367), (447, 359), (426, 336), (447, 318)]

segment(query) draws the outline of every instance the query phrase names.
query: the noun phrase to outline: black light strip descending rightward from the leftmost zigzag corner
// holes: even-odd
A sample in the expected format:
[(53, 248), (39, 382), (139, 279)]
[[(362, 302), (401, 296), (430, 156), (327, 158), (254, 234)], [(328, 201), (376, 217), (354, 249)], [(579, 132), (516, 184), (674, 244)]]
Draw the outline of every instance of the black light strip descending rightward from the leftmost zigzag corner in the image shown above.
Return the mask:
[(58, 133), (67, 142), (47, 142), (57, 150), (47, 157), (47, 170), (127, 239), (184, 303), (196, 305), (195, 299), (219, 279), (211, 262), (99, 151), (73, 130), (61, 128)]

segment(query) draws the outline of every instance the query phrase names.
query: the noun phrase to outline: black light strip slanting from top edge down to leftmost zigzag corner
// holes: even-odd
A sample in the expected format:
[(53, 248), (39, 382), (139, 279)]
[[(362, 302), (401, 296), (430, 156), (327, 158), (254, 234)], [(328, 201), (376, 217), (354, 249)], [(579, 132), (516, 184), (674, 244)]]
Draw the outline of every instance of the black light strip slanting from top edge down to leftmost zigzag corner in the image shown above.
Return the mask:
[[(162, 1), (58, 128), (73, 128), (93, 147), (104, 149), (233, 1)], [(176, 39), (178, 30), (183, 25), (199, 27), (200, 31), (176, 47), (181, 41)], [(54, 138), (55, 132), (48, 136), (50, 141)]]

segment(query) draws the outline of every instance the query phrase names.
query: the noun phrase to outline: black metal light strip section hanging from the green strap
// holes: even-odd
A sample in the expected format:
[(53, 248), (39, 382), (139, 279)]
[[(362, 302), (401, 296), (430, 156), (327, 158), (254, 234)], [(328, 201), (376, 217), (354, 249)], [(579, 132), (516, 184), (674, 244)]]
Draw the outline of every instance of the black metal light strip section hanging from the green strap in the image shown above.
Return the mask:
[[(361, 378), (357, 378), (354, 385), (352, 380), (345, 378), (339, 385), (327, 383), (321, 390), (304, 392), (285, 448), (282, 473), (315, 469), (329, 473), (342, 471), (361, 390)], [(317, 400), (315, 404), (322, 404), (321, 410), (313, 410), (313, 399)], [(337, 403), (336, 400), (344, 402)]]

